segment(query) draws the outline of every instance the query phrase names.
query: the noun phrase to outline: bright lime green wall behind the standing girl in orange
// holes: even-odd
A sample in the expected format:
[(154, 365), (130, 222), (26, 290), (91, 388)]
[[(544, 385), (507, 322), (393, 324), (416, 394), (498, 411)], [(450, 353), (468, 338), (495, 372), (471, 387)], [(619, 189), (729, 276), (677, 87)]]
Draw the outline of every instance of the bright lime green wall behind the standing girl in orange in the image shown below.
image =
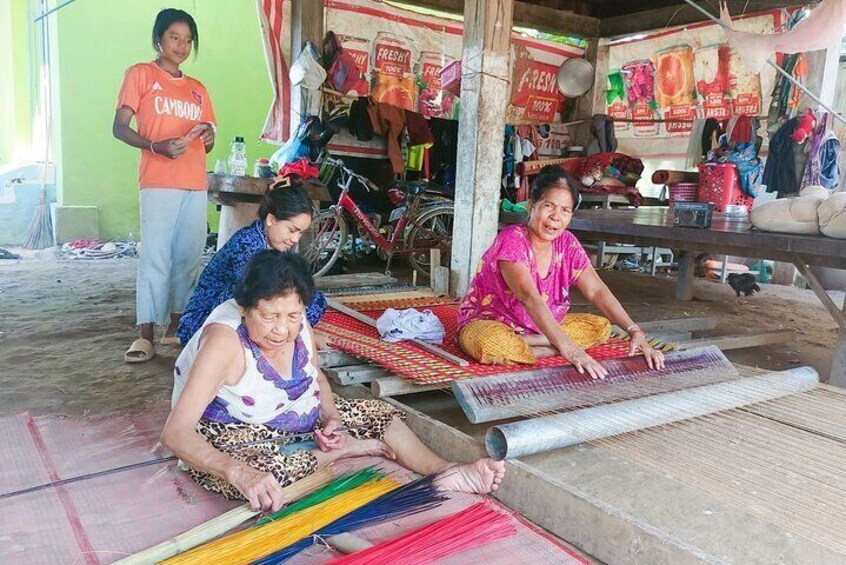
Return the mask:
[[(188, 11), (199, 28), (199, 53), (183, 70), (206, 85), (218, 118), (207, 168), (226, 159), (235, 135), (248, 140), (250, 162), (274, 150), (258, 142), (272, 91), (255, 0), (84, 0), (69, 5), (57, 14), (61, 198), (63, 205), (98, 206), (102, 238), (138, 236), (140, 152), (112, 137), (111, 128), (124, 71), (154, 58), (150, 35), (163, 7)], [(215, 216), (210, 214), (213, 222)]]

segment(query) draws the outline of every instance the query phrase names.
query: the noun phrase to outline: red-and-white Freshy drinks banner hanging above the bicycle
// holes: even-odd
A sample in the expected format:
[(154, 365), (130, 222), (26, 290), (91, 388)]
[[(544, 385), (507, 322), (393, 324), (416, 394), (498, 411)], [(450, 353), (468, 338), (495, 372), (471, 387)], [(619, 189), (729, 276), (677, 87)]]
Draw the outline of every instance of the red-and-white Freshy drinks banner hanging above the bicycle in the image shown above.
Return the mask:
[[(288, 0), (257, 0), (259, 13), (268, 13), (268, 5), (288, 4)], [(364, 74), (355, 87), (362, 96), (419, 112), (424, 116), (457, 119), (460, 107), (455, 94), (441, 85), (441, 69), (461, 59), (462, 22), (421, 15), (395, 8), (377, 0), (324, 0), (325, 29), (334, 31)], [(284, 6), (273, 15), (289, 14)], [(273, 18), (263, 22), (265, 45), (272, 54), (274, 45), (283, 46)], [(278, 20), (277, 20), (278, 21)], [(290, 22), (284, 26), (290, 29)], [(283, 52), (286, 51), (283, 48)], [(286, 53), (287, 55), (287, 53)], [(558, 66), (570, 57), (583, 57), (584, 50), (572, 45), (512, 36), (511, 104), (507, 119), (512, 124), (551, 123), (560, 120), (564, 97), (558, 92), (555, 77)], [(289, 91), (287, 76), (282, 77), (279, 61), (268, 57), (271, 78), (277, 94)], [(290, 63), (290, 61), (288, 61)], [(288, 119), (272, 112), (274, 119)], [(272, 132), (286, 131), (277, 125)]]

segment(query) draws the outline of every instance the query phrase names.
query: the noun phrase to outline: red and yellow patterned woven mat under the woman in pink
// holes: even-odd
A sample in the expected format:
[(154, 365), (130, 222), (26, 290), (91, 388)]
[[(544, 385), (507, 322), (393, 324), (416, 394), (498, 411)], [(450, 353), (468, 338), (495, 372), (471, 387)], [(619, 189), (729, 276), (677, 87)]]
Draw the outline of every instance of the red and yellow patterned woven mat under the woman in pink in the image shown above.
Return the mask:
[[(336, 312), (327, 310), (315, 331), (326, 335), (332, 346), (346, 353), (372, 361), (399, 377), (417, 384), (446, 383), (454, 379), (515, 373), (528, 369), (564, 367), (570, 363), (561, 356), (539, 359), (535, 365), (482, 365), (471, 361), (458, 346), (458, 303), (451, 298), (424, 297), (400, 300), (375, 300), (348, 303), (347, 306), (377, 319), (387, 308), (428, 308), (441, 320), (446, 338), (440, 346), (444, 350), (470, 361), (467, 367), (453, 365), (437, 355), (409, 343), (387, 343), (376, 328)], [(599, 361), (625, 357), (629, 343), (612, 337), (606, 343), (588, 350)]]

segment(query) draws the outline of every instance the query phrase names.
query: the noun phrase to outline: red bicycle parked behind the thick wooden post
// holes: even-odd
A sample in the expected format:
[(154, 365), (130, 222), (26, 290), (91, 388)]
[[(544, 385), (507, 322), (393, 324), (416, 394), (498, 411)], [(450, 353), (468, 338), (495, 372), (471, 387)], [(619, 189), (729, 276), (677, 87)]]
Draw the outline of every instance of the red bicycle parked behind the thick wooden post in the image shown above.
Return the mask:
[(329, 271), (351, 248), (345, 211), (375, 244), (379, 255), (387, 260), (386, 274), (390, 274), (391, 260), (398, 254), (407, 256), (411, 266), (426, 277), (431, 273), (430, 249), (440, 249), (441, 257), (449, 259), (454, 216), (451, 201), (428, 200), (425, 184), (409, 183), (404, 204), (391, 212), (387, 225), (377, 228), (350, 196), (350, 188), (354, 181), (368, 191), (379, 190), (379, 187), (348, 169), (339, 159), (330, 157), (326, 164), (340, 173), (341, 194), (337, 203), (314, 217), (311, 228), (300, 240), (300, 253), (311, 264), (315, 277)]

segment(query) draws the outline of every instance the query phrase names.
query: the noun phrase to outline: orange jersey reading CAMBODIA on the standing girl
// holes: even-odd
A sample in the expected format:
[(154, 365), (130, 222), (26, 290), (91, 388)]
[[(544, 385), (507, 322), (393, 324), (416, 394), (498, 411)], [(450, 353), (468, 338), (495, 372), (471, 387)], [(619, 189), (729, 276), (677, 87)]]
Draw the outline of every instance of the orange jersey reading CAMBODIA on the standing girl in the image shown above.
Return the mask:
[[(185, 74), (175, 78), (155, 63), (127, 69), (118, 108), (135, 112), (138, 133), (152, 141), (179, 138), (202, 122), (215, 123), (214, 108), (203, 84)], [(138, 183), (143, 188), (206, 190), (206, 148), (199, 138), (176, 159), (141, 150)]]

